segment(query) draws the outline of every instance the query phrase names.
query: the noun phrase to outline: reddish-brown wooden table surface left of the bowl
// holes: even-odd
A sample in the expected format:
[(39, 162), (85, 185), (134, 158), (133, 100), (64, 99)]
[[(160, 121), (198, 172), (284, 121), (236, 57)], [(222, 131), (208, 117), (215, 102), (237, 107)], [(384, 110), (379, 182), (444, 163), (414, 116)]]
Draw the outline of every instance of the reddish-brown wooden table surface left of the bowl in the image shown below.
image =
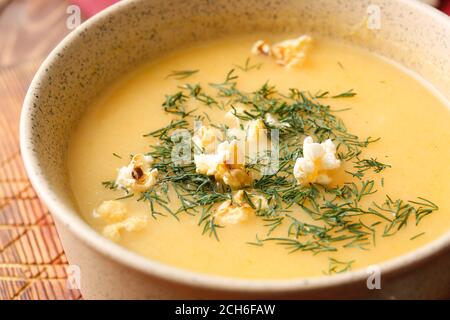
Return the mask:
[(65, 0), (0, 0), (0, 299), (79, 299), (51, 216), (22, 164), (19, 115), (28, 85), (67, 34)]

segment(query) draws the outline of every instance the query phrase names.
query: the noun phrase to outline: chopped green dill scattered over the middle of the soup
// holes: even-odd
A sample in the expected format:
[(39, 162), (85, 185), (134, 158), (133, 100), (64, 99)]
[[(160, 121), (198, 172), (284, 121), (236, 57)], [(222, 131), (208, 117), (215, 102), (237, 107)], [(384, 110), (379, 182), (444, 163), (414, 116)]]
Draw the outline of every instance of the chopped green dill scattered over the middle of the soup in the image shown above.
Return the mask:
[[(236, 68), (250, 71), (258, 69), (259, 65), (251, 64), (247, 59), (244, 66)], [(188, 71), (171, 75), (187, 77), (198, 70)], [(201, 108), (203, 106), (230, 109), (243, 122), (265, 119), (270, 113), (286, 124), (279, 128), (278, 169), (269, 175), (256, 174), (251, 186), (243, 190), (243, 202), (255, 211), (266, 228), (264, 237), (256, 235), (255, 241), (247, 242), (250, 245), (260, 247), (271, 242), (285, 247), (290, 253), (312, 254), (340, 249), (368, 250), (376, 245), (377, 238), (392, 236), (411, 221), (418, 225), (423, 218), (438, 210), (436, 204), (420, 197), (405, 201), (386, 196), (382, 203), (371, 200), (372, 195), (380, 191), (377, 190), (378, 180), (369, 178), (368, 173), (381, 175), (391, 168), (376, 158), (363, 156), (364, 149), (378, 142), (379, 138), (358, 137), (347, 129), (337, 114), (346, 109), (333, 110), (322, 103), (329, 97), (354, 97), (353, 89), (334, 96), (328, 91), (311, 94), (297, 88), (290, 88), (286, 93), (265, 82), (256, 90), (245, 92), (238, 87), (238, 79), (235, 69), (231, 69), (223, 82), (208, 83), (203, 87), (199, 83), (185, 83), (178, 86), (174, 94), (165, 96), (161, 107), (174, 119), (165, 127), (144, 135), (156, 140), (147, 155), (154, 159), (152, 167), (158, 169), (159, 183), (137, 197), (138, 201), (148, 203), (153, 218), (171, 215), (178, 220), (178, 216), (184, 213), (198, 216), (201, 232), (219, 240), (219, 229), (223, 226), (215, 221), (215, 210), (224, 201), (233, 201), (235, 191), (217, 183), (213, 177), (197, 173), (192, 161), (183, 165), (172, 161), (176, 143), (172, 134), (180, 129), (192, 133), (189, 126), (193, 120), (205, 120), (226, 132), (226, 126), (211, 123), (205, 109)], [(200, 107), (189, 108), (190, 100), (195, 100), (196, 106)], [(238, 105), (246, 108), (242, 110), (236, 107)], [(266, 126), (270, 128), (268, 124)], [(297, 184), (292, 172), (296, 159), (303, 156), (302, 142), (306, 136), (319, 142), (333, 140), (337, 157), (345, 165), (344, 171), (351, 175), (350, 181), (332, 187)], [(193, 153), (201, 151), (198, 149), (192, 144)], [(263, 156), (248, 164), (246, 169), (261, 172)], [(117, 188), (114, 181), (103, 182), (103, 185), (109, 189)], [(384, 178), (381, 177), (383, 186)], [(170, 199), (169, 194), (176, 199)], [(262, 208), (261, 201), (253, 198), (254, 194), (264, 197), (267, 207)], [(127, 195), (126, 198), (132, 196)], [(178, 208), (174, 209), (174, 203)], [(308, 222), (304, 221), (303, 215), (308, 216)], [(327, 274), (348, 271), (353, 262), (330, 258)]]

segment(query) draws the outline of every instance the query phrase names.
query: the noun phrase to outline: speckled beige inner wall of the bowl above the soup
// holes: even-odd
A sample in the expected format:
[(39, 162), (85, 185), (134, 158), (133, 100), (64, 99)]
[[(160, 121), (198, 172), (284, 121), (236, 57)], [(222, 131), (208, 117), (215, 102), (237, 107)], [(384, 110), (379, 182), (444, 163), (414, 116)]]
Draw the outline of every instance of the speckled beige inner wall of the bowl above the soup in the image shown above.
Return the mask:
[[(378, 17), (379, 28), (367, 28)], [(54, 216), (83, 240), (104, 245), (99, 250), (124, 250), (100, 240), (77, 215), (66, 172), (74, 125), (108, 84), (140, 63), (192, 41), (255, 31), (295, 31), (355, 43), (418, 73), (450, 99), (449, 19), (413, 1), (120, 2), (52, 52), (25, 100), (22, 152), (33, 185)], [(149, 271), (150, 264), (141, 262)]]

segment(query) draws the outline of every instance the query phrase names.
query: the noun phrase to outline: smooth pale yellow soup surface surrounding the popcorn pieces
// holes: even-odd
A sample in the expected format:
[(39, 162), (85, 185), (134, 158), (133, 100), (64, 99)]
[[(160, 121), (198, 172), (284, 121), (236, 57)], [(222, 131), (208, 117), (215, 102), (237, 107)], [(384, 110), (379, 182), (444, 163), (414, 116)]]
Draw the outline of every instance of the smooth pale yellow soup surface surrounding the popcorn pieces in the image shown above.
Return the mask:
[[(119, 214), (126, 210), (127, 217), (142, 218), (139, 221), (145, 224), (139, 228), (122, 224), (107, 233), (122, 246), (184, 269), (247, 279), (321, 276), (364, 268), (405, 254), (447, 232), (450, 112), (445, 103), (398, 66), (362, 49), (315, 39), (304, 63), (286, 68), (271, 57), (251, 53), (253, 43), (260, 38), (233, 37), (167, 54), (124, 77), (89, 108), (73, 134), (68, 155), (71, 186), (83, 218), (105, 234), (111, 221), (99, 218), (96, 210), (103, 201), (124, 197), (117, 200), (121, 203)], [(268, 38), (275, 42), (290, 37)], [(236, 87), (228, 86), (227, 81), (236, 83)], [(166, 127), (171, 121), (186, 121), (184, 128), (192, 133), (195, 117), (205, 125), (233, 127), (238, 123), (245, 128), (249, 119), (244, 110), (250, 110), (250, 118), (258, 118), (253, 117), (253, 105), (230, 102), (230, 97), (224, 97), (225, 89), (238, 88), (239, 92), (248, 93), (246, 97), (254, 98), (250, 93), (264, 88), (265, 83), (275, 86), (278, 92), (260, 91), (266, 106), (271, 96), (277, 96), (277, 103), (283, 100), (288, 105), (300, 101), (302, 108), (330, 106), (326, 112), (342, 119), (348, 132), (359, 137), (358, 141), (372, 138), (367, 146), (362, 143), (357, 148), (360, 154), (350, 155), (342, 143), (339, 145), (339, 139), (330, 135), (327, 123), (321, 123), (320, 117), (310, 122), (309, 129), (297, 130), (295, 134), (292, 117), (297, 111), (280, 113), (279, 121), (273, 125), (280, 130), (279, 153), (288, 154), (283, 153), (283, 139), (287, 136), (291, 148), (298, 151), (289, 152), (295, 155), (292, 159), (280, 160), (279, 166), (289, 169), (279, 171), (280, 177), (286, 179), (275, 181), (269, 175), (271, 178), (263, 184), (261, 179), (266, 176), (253, 175), (250, 184), (229, 188), (223, 181), (222, 185), (214, 181), (217, 177), (204, 174), (203, 178), (211, 181), (210, 188), (217, 189), (212, 192), (200, 188), (198, 194), (208, 197), (219, 193), (216, 200), (205, 200), (210, 208), (197, 205), (187, 212), (178, 210), (180, 206), (190, 206), (179, 200), (179, 195), (184, 199), (187, 191), (181, 187), (174, 190), (175, 179), (167, 178), (167, 164), (160, 164), (162, 158), (152, 148), (165, 146), (166, 142), (157, 137), (158, 133), (143, 135)], [(195, 84), (201, 86), (204, 96), (197, 91), (197, 97), (193, 97)], [(180, 91), (186, 98), (178, 104), (180, 101), (173, 99)], [(232, 106), (236, 110), (234, 116)], [(278, 111), (271, 112), (277, 116)], [(302, 112), (306, 115), (298, 112), (301, 115), (296, 119), (312, 119), (310, 111)], [(236, 115), (241, 115), (241, 119)], [(284, 125), (283, 117), (291, 124)], [(265, 120), (266, 127), (270, 127)], [(308, 135), (315, 142), (330, 138), (338, 147), (340, 166), (330, 171), (332, 182), (327, 181), (328, 186), (301, 185), (292, 174)], [(380, 139), (375, 141), (376, 138)], [(150, 166), (159, 169), (155, 176), (158, 182), (151, 187), (156, 190), (153, 198), (150, 194), (142, 199), (142, 190), (127, 193), (117, 188), (117, 170), (130, 163), (130, 155), (148, 152), (154, 158)], [(190, 166), (194, 166), (192, 179), (197, 178), (195, 164)], [(109, 182), (102, 185), (105, 181)], [(353, 190), (352, 182), (357, 186), (354, 193), (349, 191)], [(255, 191), (255, 183), (259, 183), (259, 190)], [(342, 189), (345, 185), (348, 188)], [(212, 220), (217, 207), (238, 189), (251, 195), (247, 202), (244, 195), (244, 207), (250, 207), (246, 219), (223, 225)], [(276, 190), (279, 195), (274, 195)], [(290, 196), (287, 190), (291, 190)], [(339, 198), (339, 190), (348, 192), (347, 197)], [(308, 196), (306, 200), (299, 196), (308, 191), (317, 193), (317, 206)], [(253, 194), (257, 194), (256, 198), (252, 198)], [(264, 208), (261, 195), (268, 202)], [(292, 200), (293, 197), (297, 198)], [(336, 198), (339, 199), (333, 202)], [(287, 199), (292, 201), (286, 202)], [(403, 202), (398, 202), (400, 199)], [(423, 216), (418, 224), (416, 216)]]

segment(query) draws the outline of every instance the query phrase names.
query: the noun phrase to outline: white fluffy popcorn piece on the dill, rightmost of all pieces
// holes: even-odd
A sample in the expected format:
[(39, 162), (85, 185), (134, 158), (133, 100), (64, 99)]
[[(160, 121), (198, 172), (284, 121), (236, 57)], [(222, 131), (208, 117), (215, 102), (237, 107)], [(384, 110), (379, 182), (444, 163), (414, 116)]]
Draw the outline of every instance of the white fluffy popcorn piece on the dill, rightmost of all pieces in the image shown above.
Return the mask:
[(336, 158), (336, 146), (328, 139), (323, 143), (314, 143), (311, 137), (303, 142), (303, 157), (298, 158), (294, 166), (294, 176), (302, 185), (309, 183), (330, 184), (328, 173), (339, 168), (341, 161)]

